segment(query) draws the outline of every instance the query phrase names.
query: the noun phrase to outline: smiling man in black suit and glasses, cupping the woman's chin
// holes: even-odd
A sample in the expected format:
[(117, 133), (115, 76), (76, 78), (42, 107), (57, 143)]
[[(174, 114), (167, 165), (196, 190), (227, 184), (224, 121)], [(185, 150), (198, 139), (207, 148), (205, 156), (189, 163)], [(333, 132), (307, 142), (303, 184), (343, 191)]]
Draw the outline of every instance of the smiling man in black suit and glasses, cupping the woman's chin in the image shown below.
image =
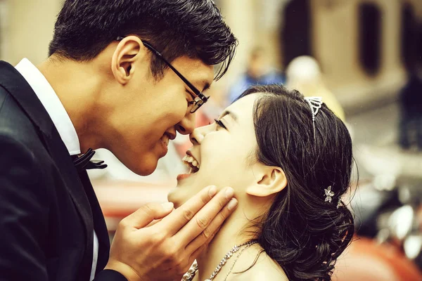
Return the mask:
[(177, 131), (193, 131), (213, 65), (221, 77), (236, 44), (211, 0), (65, 0), (44, 63), (0, 62), (0, 280), (180, 280), (233, 190), (146, 205), (109, 257), (84, 167), (107, 148), (151, 174)]

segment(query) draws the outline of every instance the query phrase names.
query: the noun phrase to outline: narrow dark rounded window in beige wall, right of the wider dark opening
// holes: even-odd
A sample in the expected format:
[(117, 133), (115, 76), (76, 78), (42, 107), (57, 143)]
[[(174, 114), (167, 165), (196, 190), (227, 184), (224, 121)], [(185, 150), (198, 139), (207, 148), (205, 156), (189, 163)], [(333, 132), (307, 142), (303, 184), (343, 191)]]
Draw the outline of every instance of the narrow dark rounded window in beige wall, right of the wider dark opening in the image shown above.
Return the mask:
[(381, 11), (376, 4), (359, 5), (359, 61), (371, 76), (381, 65)]

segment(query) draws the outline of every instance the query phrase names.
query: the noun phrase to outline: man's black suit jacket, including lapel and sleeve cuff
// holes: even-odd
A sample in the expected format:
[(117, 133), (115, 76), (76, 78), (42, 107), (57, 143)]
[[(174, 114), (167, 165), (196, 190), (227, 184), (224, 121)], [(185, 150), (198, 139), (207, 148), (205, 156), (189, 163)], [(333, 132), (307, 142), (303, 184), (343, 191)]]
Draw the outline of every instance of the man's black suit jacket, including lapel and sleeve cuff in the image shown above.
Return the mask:
[(126, 280), (102, 270), (110, 244), (87, 172), (27, 81), (0, 61), (0, 280), (88, 281), (94, 228), (95, 280)]

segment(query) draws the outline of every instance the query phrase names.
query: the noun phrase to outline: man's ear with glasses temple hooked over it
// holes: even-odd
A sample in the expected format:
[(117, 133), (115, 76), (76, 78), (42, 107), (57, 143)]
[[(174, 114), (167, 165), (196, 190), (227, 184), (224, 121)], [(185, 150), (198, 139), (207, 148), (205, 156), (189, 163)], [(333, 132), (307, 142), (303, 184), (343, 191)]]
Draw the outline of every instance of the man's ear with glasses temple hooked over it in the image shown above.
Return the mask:
[(119, 42), (113, 53), (111, 70), (120, 84), (127, 84), (134, 76), (135, 62), (143, 57), (142, 54), (146, 54), (146, 47), (139, 37), (128, 36)]

